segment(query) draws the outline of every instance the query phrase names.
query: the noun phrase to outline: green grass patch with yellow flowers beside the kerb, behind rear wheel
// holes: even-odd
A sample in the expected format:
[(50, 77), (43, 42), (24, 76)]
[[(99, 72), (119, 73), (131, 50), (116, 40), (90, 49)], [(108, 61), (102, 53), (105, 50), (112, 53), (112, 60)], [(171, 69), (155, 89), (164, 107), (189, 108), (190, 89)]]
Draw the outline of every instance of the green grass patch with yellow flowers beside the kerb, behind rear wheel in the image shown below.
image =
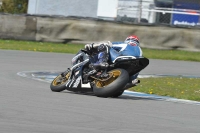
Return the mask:
[(200, 101), (200, 79), (183, 77), (142, 78), (130, 91)]

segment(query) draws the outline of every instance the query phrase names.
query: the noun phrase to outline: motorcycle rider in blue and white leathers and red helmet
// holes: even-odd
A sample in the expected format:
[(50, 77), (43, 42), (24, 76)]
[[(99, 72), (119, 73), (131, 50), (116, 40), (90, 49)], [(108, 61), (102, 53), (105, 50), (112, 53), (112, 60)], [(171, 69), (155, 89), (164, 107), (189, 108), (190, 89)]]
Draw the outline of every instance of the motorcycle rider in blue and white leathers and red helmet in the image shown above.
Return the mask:
[[(94, 56), (94, 61), (90, 65), (91, 68), (96, 70), (95, 72), (97, 72), (98, 69), (106, 69), (109, 66), (108, 62), (110, 59), (110, 54), (112, 55), (111, 60), (116, 59), (118, 56), (142, 56), (139, 38), (135, 35), (128, 36), (124, 42), (111, 43), (110, 41), (107, 41), (86, 44), (85, 49), (90, 53), (95, 53), (95, 55), (98, 55), (98, 57)], [(129, 83), (125, 86), (125, 89), (133, 87), (140, 82), (137, 80), (138, 75), (139, 73), (130, 77)]]

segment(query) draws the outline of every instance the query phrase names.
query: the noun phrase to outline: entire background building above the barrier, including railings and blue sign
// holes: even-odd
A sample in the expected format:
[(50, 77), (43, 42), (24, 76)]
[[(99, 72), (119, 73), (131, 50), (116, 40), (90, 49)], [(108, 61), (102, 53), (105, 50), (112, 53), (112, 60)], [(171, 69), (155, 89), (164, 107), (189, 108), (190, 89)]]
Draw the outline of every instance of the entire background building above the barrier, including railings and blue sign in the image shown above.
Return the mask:
[(199, 0), (29, 0), (28, 14), (129, 23), (199, 25)]

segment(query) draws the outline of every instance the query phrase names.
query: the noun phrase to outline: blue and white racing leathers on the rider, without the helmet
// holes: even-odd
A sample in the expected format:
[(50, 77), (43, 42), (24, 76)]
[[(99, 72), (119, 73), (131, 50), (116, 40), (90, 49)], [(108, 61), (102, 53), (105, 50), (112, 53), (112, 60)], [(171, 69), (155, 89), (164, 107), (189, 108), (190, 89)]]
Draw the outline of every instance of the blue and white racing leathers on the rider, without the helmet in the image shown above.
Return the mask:
[[(96, 52), (98, 57), (94, 59), (92, 67), (94, 69), (104, 69), (108, 67), (109, 61), (114, 61), (119, 56), (135, 56), (141, 57), (142, 50), (139, 46), (131, 46), (124, 42), (102, 42), (102, 43), (93, 43), (86, 44), (86, 49), (90, 49), (93, 52)], [(138, 76), (139, 73), (132, 75), (130, 77), (129, 83), (132, 83)]]

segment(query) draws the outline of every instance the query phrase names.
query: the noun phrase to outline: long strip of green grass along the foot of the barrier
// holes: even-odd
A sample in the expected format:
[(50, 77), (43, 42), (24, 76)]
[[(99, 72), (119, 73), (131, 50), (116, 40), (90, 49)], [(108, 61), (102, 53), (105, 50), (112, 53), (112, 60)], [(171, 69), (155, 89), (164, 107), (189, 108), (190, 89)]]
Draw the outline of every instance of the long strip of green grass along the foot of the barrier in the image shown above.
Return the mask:
[[(57, 52), (75, 54), (83, 44), (63, 44), (33, 41), (0, 40), (0, 49), (26, 50), (37, 52)], [(151, 59), (185, 60), (200, 62), (200, 52), (189, 52), (180, 50), (155, 50), (142, 48), (145, 57)]]

